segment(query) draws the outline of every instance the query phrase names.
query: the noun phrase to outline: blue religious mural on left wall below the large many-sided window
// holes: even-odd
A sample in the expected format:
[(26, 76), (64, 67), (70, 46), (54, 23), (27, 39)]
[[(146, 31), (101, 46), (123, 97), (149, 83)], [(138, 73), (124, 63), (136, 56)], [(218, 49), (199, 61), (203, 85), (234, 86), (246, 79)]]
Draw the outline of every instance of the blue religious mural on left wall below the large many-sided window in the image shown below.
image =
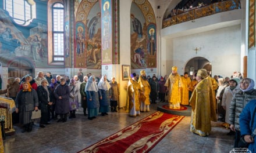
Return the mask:
[(7, 61), (7, 63), (3, 62), (4, 65), (16, 57), (24, 57), (37, 67), (46, 67), (48, 64), (47, 21), (42, 23), (35, 19), (30, 26), (19, 26), (13, 24), (8, 12), (2, 9), (0, 12), (0, 60)]

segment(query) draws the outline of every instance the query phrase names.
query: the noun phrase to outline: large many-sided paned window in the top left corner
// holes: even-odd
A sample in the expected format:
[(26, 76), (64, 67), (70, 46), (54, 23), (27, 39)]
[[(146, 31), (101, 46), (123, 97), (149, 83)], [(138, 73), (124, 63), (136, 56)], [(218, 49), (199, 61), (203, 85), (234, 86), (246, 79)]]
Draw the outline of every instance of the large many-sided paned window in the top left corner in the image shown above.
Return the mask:
[(25, 0), (3, 0), (3, 9), (20, 25), (29, 25), (35, 19), (35, 2)]

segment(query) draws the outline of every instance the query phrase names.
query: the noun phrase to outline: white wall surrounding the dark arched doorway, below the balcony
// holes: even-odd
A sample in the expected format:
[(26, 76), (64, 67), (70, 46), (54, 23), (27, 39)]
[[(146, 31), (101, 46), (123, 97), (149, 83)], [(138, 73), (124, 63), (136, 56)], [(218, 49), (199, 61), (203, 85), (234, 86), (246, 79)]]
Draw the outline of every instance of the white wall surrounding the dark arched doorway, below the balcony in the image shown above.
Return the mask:
[[(240, 71), (241, 25), (220, 28), (198, 34), (166, 39), (166, 72), (176, 65), (184, 73), (187, 62), (193, 57), (205, 57), (212, 63), (212, 75), (230, 77)], [(198, 47), (198, 53), (194, 48)]]

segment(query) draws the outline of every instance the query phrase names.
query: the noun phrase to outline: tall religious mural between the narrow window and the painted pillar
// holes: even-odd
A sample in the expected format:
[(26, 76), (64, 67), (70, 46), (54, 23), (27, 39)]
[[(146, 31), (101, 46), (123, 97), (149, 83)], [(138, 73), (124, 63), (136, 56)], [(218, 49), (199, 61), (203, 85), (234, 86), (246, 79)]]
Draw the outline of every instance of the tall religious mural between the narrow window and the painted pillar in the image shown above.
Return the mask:
[[(77, 10), (76, 10), (77, 8)], [(75, 2), (74, 65), (79, 68), (101, 68), (101, 8), (98, 1)]]

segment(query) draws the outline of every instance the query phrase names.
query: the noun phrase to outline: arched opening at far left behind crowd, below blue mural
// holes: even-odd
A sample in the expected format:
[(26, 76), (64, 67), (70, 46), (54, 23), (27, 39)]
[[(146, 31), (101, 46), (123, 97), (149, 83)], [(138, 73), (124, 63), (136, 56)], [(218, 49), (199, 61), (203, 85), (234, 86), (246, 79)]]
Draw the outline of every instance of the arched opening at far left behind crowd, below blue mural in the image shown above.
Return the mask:
[(22, 78), (26, 74), (34, 75), (34, 64), (30, 60), (16, 58), (8, 64), (8, 77)]

